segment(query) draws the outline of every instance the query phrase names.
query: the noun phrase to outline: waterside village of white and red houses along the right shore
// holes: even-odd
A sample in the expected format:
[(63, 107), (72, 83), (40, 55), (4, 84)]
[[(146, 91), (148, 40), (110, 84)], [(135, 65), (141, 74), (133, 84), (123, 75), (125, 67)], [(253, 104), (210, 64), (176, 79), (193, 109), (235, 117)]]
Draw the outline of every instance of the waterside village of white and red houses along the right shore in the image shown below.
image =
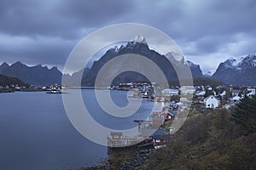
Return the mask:
[[(179, 118), (183, 111), (200, 111), (229, 109), (239, 103), (244, 97), (255, 95), (255, 87), (233, 87), (219, 85), (183, 86), (158, 90), (156, 84), (147, 82), (121, 83), (111, 87), (114, 90), (129, 90), (128, 97), (144, 98), (148, 101), (163, 103), (161, 111), (153, 111), (147, 120), (134, 120), (138, 123), (137, 136), (124, 136), (123, 133), (113, 132), (108, 136), (108, 147), (117, 148), (139, 144), (151, 145), (159, 149), (166, 145), (166, 134), (172, 133), (175, 127), (172, 122)], [(184, 96), (191, 96), (185, 98)]]

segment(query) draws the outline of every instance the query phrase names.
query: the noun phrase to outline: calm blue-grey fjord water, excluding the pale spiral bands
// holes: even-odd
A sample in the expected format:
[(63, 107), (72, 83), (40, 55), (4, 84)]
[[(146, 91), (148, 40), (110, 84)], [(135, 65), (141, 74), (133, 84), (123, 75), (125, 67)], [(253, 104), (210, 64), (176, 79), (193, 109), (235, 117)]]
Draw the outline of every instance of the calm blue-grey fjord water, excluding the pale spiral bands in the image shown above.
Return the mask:
[[(116, 105), (127, 105), (126, 92), (111, 94)], [(146, 119), (154, 105), (143, 100), (137, 113), (124, 120), (104, 113), (94, 90), (82, 90), (82, 95), (91, 116), (108, 127), (134, 127), (133, 120)], [(96, 165), (107, 156), (106, 146), (85, 139), (69, 122), (61, 94), (0, 94), (1, 169), (73, 169)]]

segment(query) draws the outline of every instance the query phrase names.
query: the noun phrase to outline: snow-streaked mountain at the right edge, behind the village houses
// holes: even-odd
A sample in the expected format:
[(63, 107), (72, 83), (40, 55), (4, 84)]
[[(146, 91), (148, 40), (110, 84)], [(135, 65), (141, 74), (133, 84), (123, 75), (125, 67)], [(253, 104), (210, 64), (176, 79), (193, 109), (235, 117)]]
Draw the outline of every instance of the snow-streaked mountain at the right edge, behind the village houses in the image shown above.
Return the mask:
[(225, 60), (212, 77), (232, 85), (256, 85), (256, 54)]

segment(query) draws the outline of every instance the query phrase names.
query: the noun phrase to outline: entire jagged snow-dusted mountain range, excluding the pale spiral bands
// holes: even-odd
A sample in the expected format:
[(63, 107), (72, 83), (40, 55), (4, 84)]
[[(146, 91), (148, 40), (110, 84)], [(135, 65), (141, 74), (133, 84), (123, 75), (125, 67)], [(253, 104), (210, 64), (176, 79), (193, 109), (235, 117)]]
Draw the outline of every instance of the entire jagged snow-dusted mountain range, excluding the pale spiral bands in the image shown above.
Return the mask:
[[(177, 54), (173, 52), (165, 55), (159, 54), (153, 49), (148, 48), (148, 44), (144, 37), (136, 37), (120, 47), (109, 48), (100, 59), (93, 62), (93, 65), (90, 68), (85, 68), (84, 72), (78, 71), (73, 73), (72, 76), (67, 74), (63, 75), (63, 77), (66, 77), (68, 82), (70, 82), (66, 85), (73, 85), (74, 80), (76, 80), (79, 74), (83, 72), (81, 81), (82, 86), (94, 86), (96, 75), (102, 66), (105, 65), (110, 59), (114, 59), (122, 54), (139, 54), (152, 60), (160, 67), (161, 71), (163, 71), (168, 82), (176, 82), (178, 80), (176, 70), (182, 71), (189, 68), (194, 79), (209, 77), (217, 79), (218, 81), (226, 84), (256, 86), (255, 54), (248, 54), (247, 56), (243, 56), (238, 60), (234, 58), (227, 59), (218, 65), (218, 69), (216, 71), (208, 71), (207, 75), (202, 75), (200, 65), (195, 65), (193, 62), (188, 60), (185, 61), (183, 56), (177, 57)], [(169, 62), (169, 60), (172, 61), (172, 64)], [(119, 63), (118, 65), (127, 66), (125, 61), (121, 62), (122, 63)], [(136, 64), (136, 61), (134, 61), (134, 64)], [(0, 74), (8, 77), (17, 77), (22, 82), (39, 86), (61, 84), (62, 77), (61, 71), (59, 71), (57, 67), (52, 67), (49, 69), (47, 66), (42, 65), (27, 66), (21, 62), (16, 62), (12, 65), (8, 65), (4, 62), (2, 65), (0, 65)], [(112, 76), (113, 75), (110, 74), (108, 77), (103, 77), (103, 79), (105, 78), (107, 80)], [(135, 71), (125, 71), (113, 79), (113, 84), (118, 84), (119, 82), (145, 81), (148, 81), (148, 79), (143, 75)], [(104, 82), (104, 80), (102, 82)]]

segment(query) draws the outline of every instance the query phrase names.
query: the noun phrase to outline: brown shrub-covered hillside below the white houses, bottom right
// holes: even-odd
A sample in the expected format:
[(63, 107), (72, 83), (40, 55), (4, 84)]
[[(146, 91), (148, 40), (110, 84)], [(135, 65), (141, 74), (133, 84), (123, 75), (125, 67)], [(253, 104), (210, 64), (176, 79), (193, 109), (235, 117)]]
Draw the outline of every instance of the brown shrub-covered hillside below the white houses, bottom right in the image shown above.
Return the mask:
[(251, 116), (237, 114), (243, 104), (233, 111), (190, 116), (177, 133), (168, 136), (165, 148), (149, 156), (144, 169), (254, 169), (256, 97), (248, 100), (252, 105), (243, 112)]

